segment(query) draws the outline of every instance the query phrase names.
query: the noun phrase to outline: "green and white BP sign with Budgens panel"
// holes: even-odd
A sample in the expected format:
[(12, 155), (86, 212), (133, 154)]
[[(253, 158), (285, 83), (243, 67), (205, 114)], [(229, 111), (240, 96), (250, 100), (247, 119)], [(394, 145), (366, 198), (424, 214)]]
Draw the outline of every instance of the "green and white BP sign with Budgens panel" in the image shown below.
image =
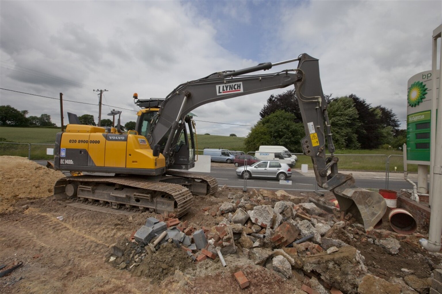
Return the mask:
[(407, 91), (407, 162), (430, 164), (431, 71), (420, 72), (408, 80)]

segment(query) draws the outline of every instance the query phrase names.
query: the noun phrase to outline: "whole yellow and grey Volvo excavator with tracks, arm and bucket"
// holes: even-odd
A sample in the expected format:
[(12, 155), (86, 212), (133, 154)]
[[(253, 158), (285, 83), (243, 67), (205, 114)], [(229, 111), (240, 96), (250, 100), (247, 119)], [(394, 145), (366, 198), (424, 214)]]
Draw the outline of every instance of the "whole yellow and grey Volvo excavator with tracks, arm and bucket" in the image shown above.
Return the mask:
[[(296, 61), (297, 68), (262, 72)], [(312, 159), (317, 184), (333, 192), (341, 211), (350, 212), (370, 230), (384, 215), (385, 200), (377, 192), (358, 188), (351, 174), (338, 172), (319, 60), (308, 54), (215, 72), (180, 84), (164, 99), (138, 99), (134, 94), (141, 110), (135, 130), (127, 133), (70, 121), (65, 132), (57, 134), (54, 167), (94, 174), (57, 181), (54, 195), (113, 208), (168, 211), (180, 217), (191, 208), (193, 195), (217, 190), (214, 177), (183, 171), (194, 167), (196, 158), (191, 111), (210, 102), (289, 86), (297, 93), (306, 134), (301, 146)]]

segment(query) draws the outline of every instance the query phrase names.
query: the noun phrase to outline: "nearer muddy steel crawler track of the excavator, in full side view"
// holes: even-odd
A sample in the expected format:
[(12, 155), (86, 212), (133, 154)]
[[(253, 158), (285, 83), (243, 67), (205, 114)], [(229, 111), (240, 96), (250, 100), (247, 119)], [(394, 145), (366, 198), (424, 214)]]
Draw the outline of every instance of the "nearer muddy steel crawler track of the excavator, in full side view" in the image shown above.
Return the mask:
[(112, 208), (173, 212), (177, 217), (185, 215), (193, 204), (191, 191), (182, 185), (129, 176), (65, 177), (56, 182), (54, 196)]

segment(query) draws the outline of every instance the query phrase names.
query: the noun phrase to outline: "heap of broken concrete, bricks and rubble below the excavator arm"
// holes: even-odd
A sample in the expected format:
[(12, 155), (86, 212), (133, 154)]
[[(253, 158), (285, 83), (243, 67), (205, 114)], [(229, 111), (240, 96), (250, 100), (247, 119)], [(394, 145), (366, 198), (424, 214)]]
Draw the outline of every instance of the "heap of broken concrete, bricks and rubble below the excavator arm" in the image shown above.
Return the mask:
[[(202, 213), (215, 218), (217, 225), (212, 227), (181, 222), (168, 213), (150, 217), (126, 245), (112, 247), (111, 261), (116, 268), (144, 275), (152, 265), (146, 260), (157, 264), (160, 252), (167, 251), (169, 259), (180, 256), (180, 269), (192, 268), (203, 260), (229, 266), (224, 256), (236, 254), (275, 271), (283, 279), (293, 279), (294, 275), (307, 293), (400, 293), (400, 289), (425, 293), (430, 287), (426, 279), (415, 275), (408, 276), (410, 282), (370, 275), (364, 256), (350, 245), (374, 244), (395, 255), (405, 235), (386, 230), (365, 232), (352, 215), (343, 215), (337, 209), (334, 214), (328, 213), (309, 199), (284, 191), (252, 190), (246, 196), (229, 195), (229, 199), (219, 207), (203, 209)], [(164, 264), (160, 272), (173, 274), (173, 264), (160, 264)], [(143, 270), (136, 270), (138, 267)], [(235, 273), (235, 279), (241, 289), (249, 285), (242, 271)], [(382, 283), (376, 282), (373, 288), (373, 279), (381, 279)], [(412, 283), (428, 287), (408, 289)]]

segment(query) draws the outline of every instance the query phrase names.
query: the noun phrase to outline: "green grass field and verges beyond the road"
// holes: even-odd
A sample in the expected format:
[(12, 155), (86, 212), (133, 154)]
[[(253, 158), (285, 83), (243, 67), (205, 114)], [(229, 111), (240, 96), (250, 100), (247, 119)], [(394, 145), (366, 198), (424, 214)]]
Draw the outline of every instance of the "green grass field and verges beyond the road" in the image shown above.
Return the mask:
[[(51, 159), (53, 156), (46, 155), (46, 148), (53, 148), (53, 146), (34, 144), (53, 144), (57, 132), (60, 132), (59, 128), (0, 127), (0, 138), (8, 142), (31, 143), (31, 159)], [(197, 135), (198, 154), (202, 154), (204, 148), (245, 151), (244, 139), (243, 137)], [(0, 155), (28, 157), (28, 152), (29, 145), (27, 144), (0, 143)], [(395, 167), (396, 171), (404, 170), (402, 151), (398, 150), (338, 150), (335, 155), (339, 157), (338, 166), (341, 170), (385, 171), (387, 159), (389, 159), (390, 171), (395, 171)], [(306, 155), (297, 155), (297, 157), (295, 168), (301, 168), (301, 164), (308, 164), (309, 168), (312, 168), (310, 157)], [(417, 172), (417, 165), (408, 165), (408, 171)]]

